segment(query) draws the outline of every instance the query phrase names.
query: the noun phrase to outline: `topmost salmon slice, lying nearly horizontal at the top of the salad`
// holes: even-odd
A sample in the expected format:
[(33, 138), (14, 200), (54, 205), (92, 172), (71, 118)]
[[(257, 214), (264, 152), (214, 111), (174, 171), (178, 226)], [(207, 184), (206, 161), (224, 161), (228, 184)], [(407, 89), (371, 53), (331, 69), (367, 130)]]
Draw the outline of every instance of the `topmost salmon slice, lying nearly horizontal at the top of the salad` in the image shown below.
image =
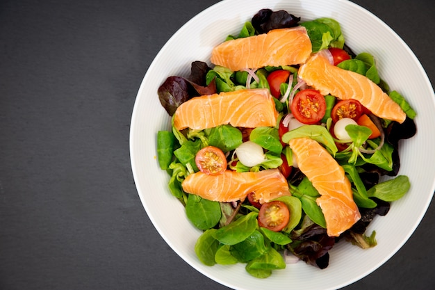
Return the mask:
[(211, 63), (238, 71), (267, 65), (298, 65), (310, 55), (311, 41), (306, 29), (297, 26), (223, 42), (211, 52)]

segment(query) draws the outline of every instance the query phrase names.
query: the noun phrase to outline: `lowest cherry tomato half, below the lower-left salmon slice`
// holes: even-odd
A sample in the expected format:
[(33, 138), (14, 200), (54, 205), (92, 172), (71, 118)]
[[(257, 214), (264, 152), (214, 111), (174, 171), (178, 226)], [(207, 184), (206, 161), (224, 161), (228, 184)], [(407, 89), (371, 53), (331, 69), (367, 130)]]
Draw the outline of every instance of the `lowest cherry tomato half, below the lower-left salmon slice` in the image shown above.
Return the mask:
[(284, 202), (274, 200), (261, 206), (258, 212), (258, 225), (274, 232), (279, 232), (288, 224), (290, 212)]

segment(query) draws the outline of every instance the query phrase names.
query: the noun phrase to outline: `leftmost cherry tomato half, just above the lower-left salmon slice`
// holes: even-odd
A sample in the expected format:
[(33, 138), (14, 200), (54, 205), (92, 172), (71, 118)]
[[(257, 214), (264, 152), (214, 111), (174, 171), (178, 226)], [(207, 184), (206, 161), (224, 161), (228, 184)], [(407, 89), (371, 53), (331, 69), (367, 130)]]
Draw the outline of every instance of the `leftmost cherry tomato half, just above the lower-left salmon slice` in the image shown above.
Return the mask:
[(197, 168), (207, 175), (219, 175), (227, 170), (227, 159), (224, 152), (217, 147), (207, 146), (195, 156)]

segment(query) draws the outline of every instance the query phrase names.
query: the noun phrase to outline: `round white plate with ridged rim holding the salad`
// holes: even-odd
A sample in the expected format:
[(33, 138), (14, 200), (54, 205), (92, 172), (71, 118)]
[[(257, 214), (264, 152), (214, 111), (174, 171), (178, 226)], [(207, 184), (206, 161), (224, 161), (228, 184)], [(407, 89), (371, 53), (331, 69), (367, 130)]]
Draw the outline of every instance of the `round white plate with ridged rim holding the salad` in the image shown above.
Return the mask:
[[(166, 172), (156, 160), (156, 133), (170, 128), (170, 118), (158, 101), (158, 86), (167, 76), (188, 76), (192, 61), (208, 62), (211, 49), (262, 8), (287, 10), (302, 21), (332, 17), (340, 22), (347, 45), (377, 59), (381, 77), (406, 96), (417, 111), (418, 133), (400, 145), (400, 175), (408, 175), (411, 190), (393, 202), (387, 216), (370, 225), (378, 245), (369, 250), (338, 243), (329, 266), (319, 270), (304, 262), (274, 271), (267, 279), (246, 273), (244, 264), (204, 266), (194, 245), (201, 232), (186, 218), (180, 202), (167, 189)], [(403, 72), (406, 67), (407, 73)], [(152, 223), (177, 254), (197, 271), (233, 289), (338, 289), (375, 271), (409, 239), (422, 219), (435, 190), (435, 95), (422, 65), (411, 49), (384, 22), (356, 4), (343, 0), (226, 0), (211, 6), (186, 23), (161, 49), (142, 81), (133, 109), (130, 131), (131, 165), (140, 200)], [(430, 166), (422, 166), (429, 164)], [(165, 211), (161, 211), (164, 204)], [(172, 213), (170, 216), (167, 212)]]

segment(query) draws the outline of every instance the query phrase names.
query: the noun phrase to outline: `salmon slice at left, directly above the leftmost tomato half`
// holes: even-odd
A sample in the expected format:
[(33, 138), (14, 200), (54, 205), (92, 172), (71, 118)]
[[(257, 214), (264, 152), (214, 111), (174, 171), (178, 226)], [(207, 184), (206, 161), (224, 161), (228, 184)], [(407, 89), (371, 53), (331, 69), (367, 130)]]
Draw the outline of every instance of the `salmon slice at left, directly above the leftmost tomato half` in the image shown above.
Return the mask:
[(266, 88), (236, 90), (194, 97), (174, 113), (174, 127), (203, 130), (222, 124), (233, 127), (274, 127), (278, 112)]

